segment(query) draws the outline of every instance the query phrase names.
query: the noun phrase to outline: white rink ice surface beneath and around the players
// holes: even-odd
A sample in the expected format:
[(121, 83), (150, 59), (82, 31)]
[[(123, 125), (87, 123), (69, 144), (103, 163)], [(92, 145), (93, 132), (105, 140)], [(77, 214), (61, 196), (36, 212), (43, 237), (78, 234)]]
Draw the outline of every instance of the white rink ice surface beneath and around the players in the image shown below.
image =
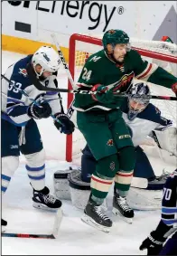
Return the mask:
[[(24, 55), (2, 52), (2, 72)], [(59, 74), (59, 87), (67, 88), (65, 71)], [(61, 94), (66, 109), (67, 94)], [(46, 150), (46, 185), (53, 193), (53, 173), (71, 166), (65, 159), (65, 135), (54, 126), (52, 119), (38, 122), (43, 146)], [(33, 138), (32, 138), (33, 139)], [(163, 168), (174, 170), (174, 165), (150, 157), (155, 174), (161, 175)], [(78, 166), (79, 163), (74, 163)], [(20, 165), (16, 170), (4, 196), (3, 218), (8, 222), (6, 232), (51, 233), (55, 213), (33, 208), (33, 190), (26, 174), (24, 158), (20, 156)], [(112, 196), (107, 201), (111, 204)], [(83, 212), (75, 208), (70, 201), (62, 200), (63, 218), (58, 238), (27, 239), (2, 238), (3, 255), (146, 255), (139, 246), (160, 221), (161, 211), (135, 211), (132, 224), (113, 215), (108, 208), (108, 216), (113, 220), (111, 232), (100, 232), (80, 220)]]

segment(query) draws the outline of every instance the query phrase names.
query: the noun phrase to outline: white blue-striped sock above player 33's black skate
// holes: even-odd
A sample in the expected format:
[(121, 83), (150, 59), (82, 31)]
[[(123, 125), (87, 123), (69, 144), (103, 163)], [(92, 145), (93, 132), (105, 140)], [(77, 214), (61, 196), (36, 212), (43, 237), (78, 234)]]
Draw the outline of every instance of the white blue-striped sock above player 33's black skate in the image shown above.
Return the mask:
[(26, 169), (30, 182), (35, 190), (42, 190), (45, 186), (45, 151), (24, 155), (26, 158)]

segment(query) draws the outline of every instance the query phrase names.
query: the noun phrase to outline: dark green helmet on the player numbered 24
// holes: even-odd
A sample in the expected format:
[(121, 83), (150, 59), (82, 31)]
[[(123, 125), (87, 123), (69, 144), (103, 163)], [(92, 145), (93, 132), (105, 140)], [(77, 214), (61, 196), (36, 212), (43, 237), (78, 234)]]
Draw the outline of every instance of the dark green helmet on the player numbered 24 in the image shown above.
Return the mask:
[(112, 44), (113, 47), (117, 43), (127, 43), (129, 45), (129, 36), (122, 30), (110, 29), (104, 33), (102, 38), (104, 49), (107, 51), (107, 44)]

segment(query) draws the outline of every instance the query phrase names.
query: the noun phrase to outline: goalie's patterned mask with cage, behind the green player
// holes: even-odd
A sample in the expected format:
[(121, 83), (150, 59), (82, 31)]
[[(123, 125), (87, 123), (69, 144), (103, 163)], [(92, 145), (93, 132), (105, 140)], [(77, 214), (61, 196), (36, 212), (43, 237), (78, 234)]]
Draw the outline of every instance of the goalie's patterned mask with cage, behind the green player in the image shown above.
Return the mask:
[(134, 84), (128, 91), (129, 93), (127, 118), (133, 120), (149, 104), (150, 99), (147, 96), (150, 96), (150, 89), (146, 84), (141, 82)]

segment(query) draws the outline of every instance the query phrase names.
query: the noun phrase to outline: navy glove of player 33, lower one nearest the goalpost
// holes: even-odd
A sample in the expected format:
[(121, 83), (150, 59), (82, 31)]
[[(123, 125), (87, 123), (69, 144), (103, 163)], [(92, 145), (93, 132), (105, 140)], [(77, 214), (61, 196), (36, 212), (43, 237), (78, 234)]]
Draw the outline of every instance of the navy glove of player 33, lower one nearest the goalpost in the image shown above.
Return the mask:
[(70, 121), (69, 117), (66, 114), (56, 114), (55, 117), (60, 120), (61, 124), (54, 121), (54, 125), (58, 128), (61, 133), (71, 134), (74, 131), (75, 125), (72, 121)]

